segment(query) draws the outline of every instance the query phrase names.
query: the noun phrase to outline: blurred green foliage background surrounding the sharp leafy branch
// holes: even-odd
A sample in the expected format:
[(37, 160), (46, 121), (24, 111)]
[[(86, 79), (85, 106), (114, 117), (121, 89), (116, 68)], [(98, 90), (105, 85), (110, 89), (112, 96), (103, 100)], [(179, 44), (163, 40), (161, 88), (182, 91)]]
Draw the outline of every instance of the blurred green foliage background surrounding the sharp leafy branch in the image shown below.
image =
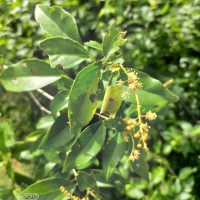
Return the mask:
[[(151, 200), (199, 199), (199, 0), (0, 0), (0, 73), (22, 59), (46, 58), (37, 46), (45, 38), (34, 19), (38, 3), (70, 12), (84, 42), (101, 41), (108, 27), (116, 24), (127, 31), (126, 67), (143, 70), (163, 83), (173, 79), (169, 88), (180, 99), (162, 109), (152, 124), (150, 183), (131, 178), (124, 188), (112, 189), (111, 199), (119, 194), (121, 199), (144, 199), (146, 194)], [(49, 92), (53, 95), (52, 88)], [(44, 97), (35, 95), (49, 106)], [(51, 176), (53, 166), (32, 142), (51, 123), (44, 116), (27, 93), (6, 92), (0, 86), (0, 199), (13, 199), (13, 188)], [(40, 119), (45, 119), (46, 127)]]

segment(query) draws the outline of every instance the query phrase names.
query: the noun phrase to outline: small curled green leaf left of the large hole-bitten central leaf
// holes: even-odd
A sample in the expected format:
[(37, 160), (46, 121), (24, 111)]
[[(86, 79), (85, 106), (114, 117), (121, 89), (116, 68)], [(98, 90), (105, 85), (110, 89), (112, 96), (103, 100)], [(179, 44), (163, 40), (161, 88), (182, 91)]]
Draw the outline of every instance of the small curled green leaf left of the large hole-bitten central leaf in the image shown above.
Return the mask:
[(57, 117), (60, 110), (67, 108), (68, 99), (69, 99), (68, 95), (69, 95), (69, 91), (63, 90), (63, 91), (58, 92), (54, 96), (54, 99), (51, 101), (51, 104), (50, 104), (51, 114), (53, 115), (54, 118)]

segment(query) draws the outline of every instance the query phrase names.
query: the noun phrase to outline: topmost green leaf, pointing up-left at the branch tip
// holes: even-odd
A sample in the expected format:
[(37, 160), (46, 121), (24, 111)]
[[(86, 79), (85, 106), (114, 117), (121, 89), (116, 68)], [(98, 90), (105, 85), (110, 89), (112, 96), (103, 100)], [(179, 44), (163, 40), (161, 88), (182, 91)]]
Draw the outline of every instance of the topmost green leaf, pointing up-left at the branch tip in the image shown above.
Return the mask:
[(50, 35), (68, 37), (81, 43), (76, 21), (64, 9), (56, 6), (37, 5), (35, 19)]

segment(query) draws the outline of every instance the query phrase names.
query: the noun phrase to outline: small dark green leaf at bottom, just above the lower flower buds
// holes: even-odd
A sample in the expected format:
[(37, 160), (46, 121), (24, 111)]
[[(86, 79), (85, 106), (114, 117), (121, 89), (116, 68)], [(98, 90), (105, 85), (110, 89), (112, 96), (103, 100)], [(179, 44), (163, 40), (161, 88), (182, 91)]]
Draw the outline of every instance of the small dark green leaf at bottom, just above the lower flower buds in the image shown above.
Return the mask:
[(76, 177), (78, 187), (81, 191), (84, 191), (88, 188), (93, 190), (97, 190), (96, 180), (93, 175), (88, 174), (86, 172), (80, 171), (78, 176)]

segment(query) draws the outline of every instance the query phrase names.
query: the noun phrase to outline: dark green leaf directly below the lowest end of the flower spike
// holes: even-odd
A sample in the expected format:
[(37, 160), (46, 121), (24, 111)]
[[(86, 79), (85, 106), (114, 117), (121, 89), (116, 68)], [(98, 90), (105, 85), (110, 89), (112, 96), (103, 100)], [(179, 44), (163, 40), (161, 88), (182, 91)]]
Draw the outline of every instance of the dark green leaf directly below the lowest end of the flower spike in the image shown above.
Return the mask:
[(140, 150), (139, 159), (133, 162), (133, 169), (136, 174), (149, 181), (149, 166), (146, 162), (146, 152)]

